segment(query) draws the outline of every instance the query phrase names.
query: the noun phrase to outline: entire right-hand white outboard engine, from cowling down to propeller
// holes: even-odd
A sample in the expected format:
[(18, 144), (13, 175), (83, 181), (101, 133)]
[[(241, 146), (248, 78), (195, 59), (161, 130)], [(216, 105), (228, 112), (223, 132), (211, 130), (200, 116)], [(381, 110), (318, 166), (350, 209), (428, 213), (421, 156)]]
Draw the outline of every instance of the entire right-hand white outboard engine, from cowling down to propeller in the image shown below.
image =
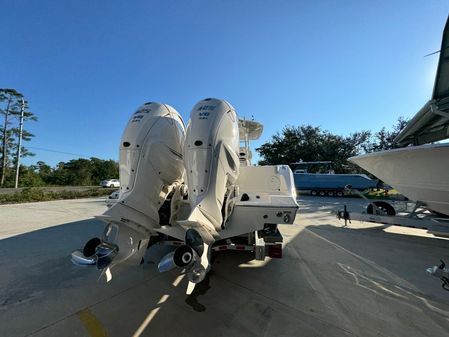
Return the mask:
[[(184, 144), (184, 165), (191, 211), (177, 223), (186, 229), (185, 244), (164, 256), (161, 272), (175, 266), (186, 270), (187, 294), (210, 269), (210, 248), (225, 219), (226, 196), (239, 175), (239, 130), (234, 108), (226, 101), (207, 98), (190, 113)], [(224, 212), (225, 215), (227, 212)]]

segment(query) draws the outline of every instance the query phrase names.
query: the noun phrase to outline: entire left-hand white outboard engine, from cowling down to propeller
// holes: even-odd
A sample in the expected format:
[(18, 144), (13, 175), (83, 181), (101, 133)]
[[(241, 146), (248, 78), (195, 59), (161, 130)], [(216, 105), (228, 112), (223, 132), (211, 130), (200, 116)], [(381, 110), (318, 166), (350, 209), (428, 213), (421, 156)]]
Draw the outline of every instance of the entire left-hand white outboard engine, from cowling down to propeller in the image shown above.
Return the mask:
[(103, 237), (88, 241), (72, 261), (99, 269), (128, 260), (139, 263), (150, 235), (159, 228), (158, 210), (182, 182), (185, 127), (169, 105), (146, 103), (130, 118), (120, 143), (120, 196), (98, 218), (107, 222)]

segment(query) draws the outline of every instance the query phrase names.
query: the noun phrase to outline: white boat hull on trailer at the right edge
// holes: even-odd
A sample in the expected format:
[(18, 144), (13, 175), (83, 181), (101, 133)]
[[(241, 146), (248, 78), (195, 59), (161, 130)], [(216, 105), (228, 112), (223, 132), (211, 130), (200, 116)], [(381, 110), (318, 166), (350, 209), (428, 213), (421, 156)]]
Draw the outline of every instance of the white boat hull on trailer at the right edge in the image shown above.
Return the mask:
[(449, 215), (449, 144), (427, 144), (349, 158), (399, 193)]

